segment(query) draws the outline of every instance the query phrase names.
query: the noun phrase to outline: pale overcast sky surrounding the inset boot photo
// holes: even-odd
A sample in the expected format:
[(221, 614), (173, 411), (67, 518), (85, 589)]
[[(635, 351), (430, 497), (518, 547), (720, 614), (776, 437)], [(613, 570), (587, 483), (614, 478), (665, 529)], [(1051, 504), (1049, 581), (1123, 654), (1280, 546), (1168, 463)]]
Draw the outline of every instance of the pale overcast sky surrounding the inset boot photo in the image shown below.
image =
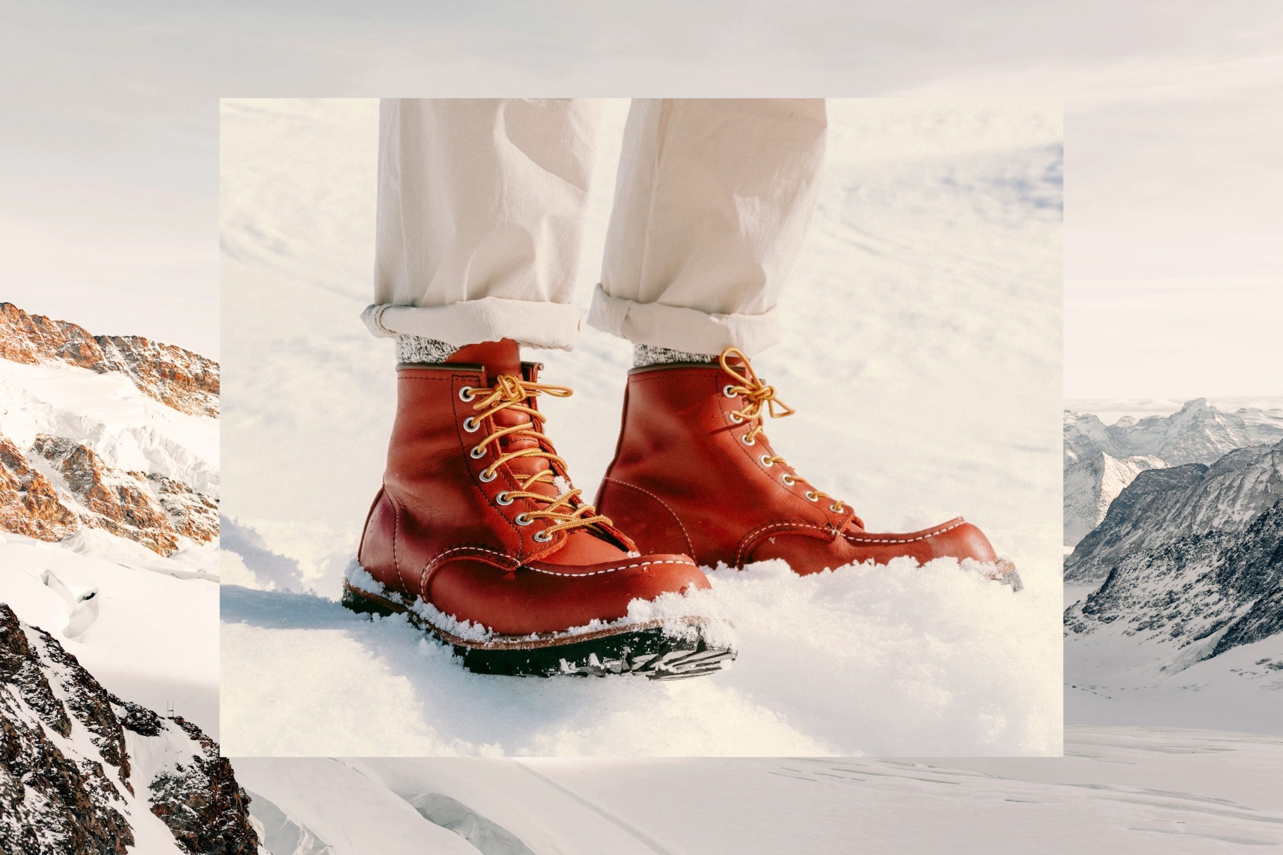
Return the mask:
[(1066, 110), (1066, 395), (1283, 386), (1278, 3), (263, 8), (6, 10), (0, 300), (217, 356), (221, 96), (1037, 95)]

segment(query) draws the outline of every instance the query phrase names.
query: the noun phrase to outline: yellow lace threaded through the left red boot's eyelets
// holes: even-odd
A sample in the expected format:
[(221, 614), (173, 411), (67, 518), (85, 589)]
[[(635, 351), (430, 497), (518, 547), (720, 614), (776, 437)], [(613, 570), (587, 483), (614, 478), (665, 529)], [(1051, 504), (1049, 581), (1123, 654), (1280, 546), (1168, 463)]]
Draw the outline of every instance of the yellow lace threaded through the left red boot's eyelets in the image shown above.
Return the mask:
[[(559, 531), (582, 528), (597, 523), (611, 524), (609, 518), (598, 514), (593, 505), (579, 500), (582, 490), (568, 490), (556, 499), (541, 492), (531, 492), (530, 490), (536, 483), (547, 483), (557, 487), (558, 476), (566, 478), (565, 483), (568, 486), (570, 478), (566, 476), (566, 460), (553, 451), (552, 440), (540, 432), (547, 417), (532, 406), (527, 406), (526, 401), (539, 395), (570, 397), (572, 394), (566, 386), (531, 383), (512, 374), (500, 374), (495, 378), (495, 385), (490, 388), (466, 387), (459, 392), (466, 400), (481, 399), (472, 405), (472, 409), (477, 410), (477, 414), (464, 419), (464, 429), (476, 431), (485, 419), (491, 419), (489, 436), (477, 442), (472, 449), (472, 456), (482, 456), (490, 444), (494, 444), (495, 449), (502, 449), (499, 441), (504, 437), (534, 440), (536, 444), (514, 451), (500, 451), (494, 463), (481, 470), (482, 481), (493, 481), (499, 467), (518, 458), (543, 458), (548, 460), (549, 468), (543, 472), (532, 474), (513, 473), (517, 483), (521, 485), (521, 490), (506, 490), (495, 496), (495, 501), (500, 505), (511, 505), (516, 499), (530, 499), (544, 505), (541, 510), (529, 510), (516, 517), (516, 522), (521, 526), (526, 526), (535, 519), (552, 519), (554, 522), (553, 526), (535, 533), (535, 540), (539, 542), (548, 542)], [(530, 417), (530, 420), (509, 424), (504, 428), (497, 427), (491, 417), (503, 410), (525, 413)]]

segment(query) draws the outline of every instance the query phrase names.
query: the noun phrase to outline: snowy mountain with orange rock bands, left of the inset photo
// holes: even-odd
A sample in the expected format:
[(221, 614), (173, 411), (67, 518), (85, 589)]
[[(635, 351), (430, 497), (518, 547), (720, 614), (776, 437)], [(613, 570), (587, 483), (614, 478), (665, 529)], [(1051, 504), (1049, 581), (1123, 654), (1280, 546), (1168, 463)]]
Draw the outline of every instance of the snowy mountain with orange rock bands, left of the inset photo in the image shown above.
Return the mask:
[(0, 602), (213, 735), (218, 373), (0, 304)]

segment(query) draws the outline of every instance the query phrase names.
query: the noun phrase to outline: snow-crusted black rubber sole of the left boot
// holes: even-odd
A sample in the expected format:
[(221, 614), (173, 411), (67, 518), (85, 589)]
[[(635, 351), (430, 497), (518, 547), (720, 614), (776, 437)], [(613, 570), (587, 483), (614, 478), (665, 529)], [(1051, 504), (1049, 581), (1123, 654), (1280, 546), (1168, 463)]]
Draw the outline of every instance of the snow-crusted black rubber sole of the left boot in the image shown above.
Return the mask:
[(404, 614), (412, 623), (450, 647), (468, 670), (507, 677), (606, 677), (626, 674), (648, 679), (686, 679), (712, 674), (735, 659), (735, 650), (712, 645), (699, 623), (689, 632), (668, 635), (658, 626), (618, 631), (550, 636), (538, 640), (499, 637), (485, 643), (455, 638), (404, 605), (384, 596), (344, 586), (343, 605), (359, 614)]

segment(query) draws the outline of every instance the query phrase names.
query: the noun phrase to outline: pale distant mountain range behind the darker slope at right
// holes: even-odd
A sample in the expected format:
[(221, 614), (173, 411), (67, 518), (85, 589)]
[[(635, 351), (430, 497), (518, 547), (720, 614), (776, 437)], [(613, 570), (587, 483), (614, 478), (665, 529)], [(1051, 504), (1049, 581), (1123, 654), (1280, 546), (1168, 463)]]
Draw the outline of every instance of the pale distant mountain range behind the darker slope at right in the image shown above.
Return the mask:
[(1124, 417), (1110, 426), (1096, 415), (1066, 410), (1064, 431), (1066, 467), (1101, 451), (1116, 459), (1155, 456), (1169, 467), (1210, 465), (1234, 449), (1283, 440), (1283, 409), (1224, 413), (1198, 397), (1171, 415)]

